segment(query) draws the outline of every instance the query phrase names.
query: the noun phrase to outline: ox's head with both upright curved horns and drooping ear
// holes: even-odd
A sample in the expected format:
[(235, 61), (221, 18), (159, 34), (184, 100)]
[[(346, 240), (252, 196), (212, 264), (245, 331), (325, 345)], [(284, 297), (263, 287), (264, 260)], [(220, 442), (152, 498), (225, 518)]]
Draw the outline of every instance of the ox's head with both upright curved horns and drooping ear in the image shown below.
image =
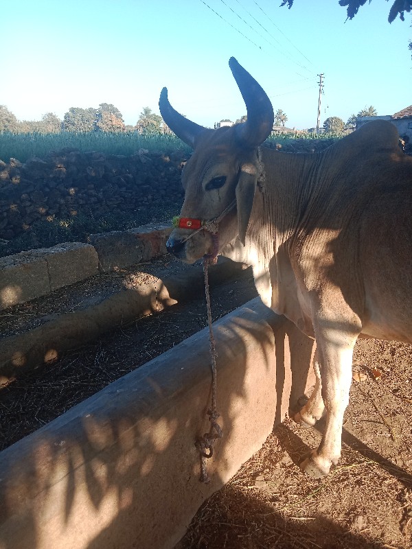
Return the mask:
[[(163, 88), (159, 107), (163, 120), (185, 143), (194, 148), (185, 165), (182, 183), (185, 200), (181, 222), (167, 243), (168, 250), (187, 263), (214, 257), (231, 240), (244, 244), (260, 166), (258, 146), (273, 128), (273, 107), (262, 87), (235, 58), (229, 67), (247, 107), (247, 121), (210, 130), (180, 115), (170, 105)], [(214, 230), (195, 232), (190, 227), (217, 220)]]

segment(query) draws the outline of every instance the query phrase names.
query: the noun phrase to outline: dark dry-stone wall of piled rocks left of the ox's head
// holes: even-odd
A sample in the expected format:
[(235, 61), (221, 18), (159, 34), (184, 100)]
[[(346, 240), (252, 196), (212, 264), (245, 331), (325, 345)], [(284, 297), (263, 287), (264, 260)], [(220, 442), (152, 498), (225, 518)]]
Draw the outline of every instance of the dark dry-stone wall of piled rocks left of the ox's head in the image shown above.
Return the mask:
[(52, 221), (91, 212), (98, 218), (154, 202), (183, 201), (186, 156), (139, 150), (133, 156), (66, 148), (22, 164), (0, 161), (0, 238), (12, 240), (41, 218)]

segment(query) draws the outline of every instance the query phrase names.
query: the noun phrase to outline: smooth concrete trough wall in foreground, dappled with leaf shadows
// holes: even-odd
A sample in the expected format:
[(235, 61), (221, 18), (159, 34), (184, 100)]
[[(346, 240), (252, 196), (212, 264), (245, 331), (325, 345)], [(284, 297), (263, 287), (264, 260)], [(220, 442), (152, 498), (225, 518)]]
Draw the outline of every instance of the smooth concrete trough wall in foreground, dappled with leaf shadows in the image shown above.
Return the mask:
[(0, 546), (168, 549), (308, 384), (312, 341), (260, 300), (215, 324), (224, 437), (201, 484), (207, 330), (0, 454)]

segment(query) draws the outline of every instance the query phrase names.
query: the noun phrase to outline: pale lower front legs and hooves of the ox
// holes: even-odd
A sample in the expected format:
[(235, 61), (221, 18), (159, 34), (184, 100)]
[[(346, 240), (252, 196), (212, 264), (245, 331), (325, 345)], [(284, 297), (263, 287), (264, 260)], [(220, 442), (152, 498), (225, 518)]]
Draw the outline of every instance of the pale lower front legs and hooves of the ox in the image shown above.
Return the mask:
[[(326, 410), (326, 427), (321, 444), (313, 450), (308, 458), (300, 465), (314, 478), (327, 475), (332, 464), (336, 464), (341, 457), (343, 414), (349, 404), (349, 391), (352, 381), (352, 353), (356, 338), (353, 336), (339, 338), (339, 342), (326, 338), (317, 338), (317, 361), (315, 372), (318, 369), (320, 379), (315, 388), (312, 401), (306, 404), (306, 410), (300, 412), (301, 419), (310, 423), (317, 419), (321, 411), (320, 397), (323, 399)], [(350, 341), (350, 344), (348, 344)], [(308, 421), (309, 420), (309, 421)]]

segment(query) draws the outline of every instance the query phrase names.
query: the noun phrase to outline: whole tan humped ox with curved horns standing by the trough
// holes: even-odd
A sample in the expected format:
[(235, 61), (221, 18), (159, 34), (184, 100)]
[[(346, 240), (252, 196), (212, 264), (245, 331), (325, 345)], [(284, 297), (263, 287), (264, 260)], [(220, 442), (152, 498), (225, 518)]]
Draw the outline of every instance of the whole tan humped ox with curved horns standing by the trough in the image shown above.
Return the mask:
[(203, 128), (161, 92), (165, 123), (194, 148), (168, 250), (188, 263), (225, 255), (251, 265), (262, 301), (316, 340), (316, 386), (295, 419), (314, 425), (326, 412), (321, 444), (301, 464), (320, 477), (341, 456), (356, 338), (412, 342), (412, 158), (380, 120), (320, 154), (260, 148), (271, 102), (234, 58), (229, 66), (243, 124)]

